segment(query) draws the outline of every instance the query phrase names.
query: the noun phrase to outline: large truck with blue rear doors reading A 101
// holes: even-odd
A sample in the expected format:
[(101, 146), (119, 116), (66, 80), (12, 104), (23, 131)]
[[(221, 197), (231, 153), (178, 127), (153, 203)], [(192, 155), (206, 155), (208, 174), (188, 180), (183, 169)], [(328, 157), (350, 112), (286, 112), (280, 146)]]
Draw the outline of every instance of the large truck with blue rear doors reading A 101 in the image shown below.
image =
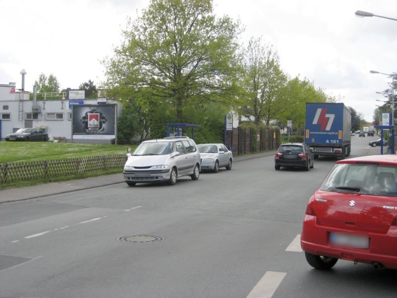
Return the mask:
[(351, 112), (343, 103), (306, 103), (305, 143), (314, 158), (349, 156), (350, 130)]

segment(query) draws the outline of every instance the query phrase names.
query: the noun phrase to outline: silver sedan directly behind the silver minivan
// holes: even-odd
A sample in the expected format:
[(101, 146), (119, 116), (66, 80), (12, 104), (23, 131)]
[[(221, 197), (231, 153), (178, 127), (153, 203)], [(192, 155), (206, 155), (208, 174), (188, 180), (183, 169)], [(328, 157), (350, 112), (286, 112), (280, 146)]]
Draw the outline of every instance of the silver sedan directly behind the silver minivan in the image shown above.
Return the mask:
[(201, 156), (201, 170), (218, 172), (219, 168), (232, 169), (233, 153), (223, 144), (197, 145)]

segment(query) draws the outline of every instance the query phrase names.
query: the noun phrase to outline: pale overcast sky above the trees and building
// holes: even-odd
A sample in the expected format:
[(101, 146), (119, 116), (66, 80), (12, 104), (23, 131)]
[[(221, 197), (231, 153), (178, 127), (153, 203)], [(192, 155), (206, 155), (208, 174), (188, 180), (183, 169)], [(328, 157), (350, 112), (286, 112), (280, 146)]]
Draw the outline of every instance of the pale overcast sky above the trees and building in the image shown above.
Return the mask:
[[(32, 91), (40, 73), (61, 88), (104, 80), (100, 61), (113, 55), (121, 30), (149, 0), (0, 0), (0, 84)], [(308, 78), (371, 122), (376, 91), (397, 72), (397, 21), (356, 17), (356, 10), (397, 18), (396, 0), (213, 0), (215, 13), (239, 18), (242, 43), (262, 36), (283, 71)], [(310, 101), (310, 98), (308, 99)]]

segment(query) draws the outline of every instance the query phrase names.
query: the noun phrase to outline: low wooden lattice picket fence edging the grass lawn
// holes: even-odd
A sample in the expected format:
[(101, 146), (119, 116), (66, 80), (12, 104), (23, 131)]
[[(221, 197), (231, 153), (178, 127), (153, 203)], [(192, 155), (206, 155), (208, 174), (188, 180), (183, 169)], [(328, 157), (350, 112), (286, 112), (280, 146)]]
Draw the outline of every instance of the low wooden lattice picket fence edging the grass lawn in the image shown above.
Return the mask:
[(123, 169), (125, 154), (0, 163), (0, 183), (73, 176), (110, 169)]

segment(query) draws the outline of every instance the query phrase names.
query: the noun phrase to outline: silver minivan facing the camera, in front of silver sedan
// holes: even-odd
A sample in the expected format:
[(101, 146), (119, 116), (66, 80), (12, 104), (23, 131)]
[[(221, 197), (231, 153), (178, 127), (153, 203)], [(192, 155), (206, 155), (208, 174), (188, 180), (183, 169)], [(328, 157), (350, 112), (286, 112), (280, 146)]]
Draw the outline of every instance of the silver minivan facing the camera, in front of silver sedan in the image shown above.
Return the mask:
[(189, 138), (164, 138), (142, 142), (127, 154), (124, 181), (136, 183), (167, 182), (174, 185), (182, 176), (199, 179), (200, 153)]

